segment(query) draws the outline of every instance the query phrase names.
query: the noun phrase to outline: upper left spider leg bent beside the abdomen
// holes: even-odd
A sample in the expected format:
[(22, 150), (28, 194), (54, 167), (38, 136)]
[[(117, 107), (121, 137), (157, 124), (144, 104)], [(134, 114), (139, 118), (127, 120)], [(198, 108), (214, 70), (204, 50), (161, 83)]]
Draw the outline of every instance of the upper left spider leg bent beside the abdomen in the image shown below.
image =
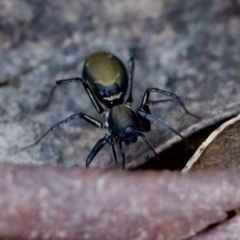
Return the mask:
[(70, 82), (81, 82), (93, 104), (93, 106), (95, 107), (96, 111), (98, 113), (103, 113), (104, 112), (104, 109), (103, 107), (101, 106), (100, 102), (98, 101), (97, 97), (94, 95), (92, 89), (90, 88), (89, 84), (87, 81), (85, 81), (83, 78), (79, 78), (79, 77), (76, 77), (76, 78), (68, 78), (68, 79), (61, 79), (61, 80), (58, 80), (56, 81), (56, 85), (52, 88), (50, 94), (49, 94), (49, 97), (48, 97), (48, 100), (47, 102), (41, 106), (41, 108), (46, 108), (48, 107), (48, 105), (50, 104), (51, 100), (52, 100), (52, 97), (53, 97), (53, 94), (56, 90), (56, 88), (62, 84), (66, 84), (66, 83), (70, 83)]

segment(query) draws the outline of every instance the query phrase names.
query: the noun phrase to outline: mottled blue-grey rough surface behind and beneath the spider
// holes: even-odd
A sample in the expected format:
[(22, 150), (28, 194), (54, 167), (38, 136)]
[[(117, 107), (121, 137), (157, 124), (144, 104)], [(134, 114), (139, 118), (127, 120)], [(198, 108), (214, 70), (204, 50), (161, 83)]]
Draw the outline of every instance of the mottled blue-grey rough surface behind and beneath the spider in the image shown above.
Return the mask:
[[(104, 121), (80, 84), (59, 87), (48, 109), (39, 109), (55, 80), (81, 76), (86, 57), (105, 50), (127, 64), (136, 58), (134, 107), (148, 87), (182, 97), (203, 118), (239, 108), (240, 18), (235, 1), (2, 1), (0, 3), (0, 159), (84, 165), (105, 130), (74, 120), (37, 147), (11, 155), (49, 127), (84, 112)], [(151, 99), (159, 99), (153, 94)], [(152, 113), (181, 131), (198, 120), (177, 104)], [(147, 138), (159, 147), (174, 134), (153, 124)], [(153, 156), (146, 144), (126, 147), (127, 166)], [(93, 165), (111, 161), (106, 146)]]

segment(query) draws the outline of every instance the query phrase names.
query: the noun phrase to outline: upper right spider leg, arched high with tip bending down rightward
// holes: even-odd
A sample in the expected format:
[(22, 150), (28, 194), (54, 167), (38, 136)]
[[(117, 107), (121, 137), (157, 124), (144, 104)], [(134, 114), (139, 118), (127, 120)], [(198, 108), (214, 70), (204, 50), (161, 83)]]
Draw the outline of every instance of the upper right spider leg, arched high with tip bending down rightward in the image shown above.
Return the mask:
[[(180, 99), (180, 97), (178, 97), (176, 94), (171, 93), (171, 92), (164, 91), (164, 90), (159, 89), (159, 88), (148, 88), (148, 89), (145, 91), (145, 93), (144, 93), (144, 95), (143, 95), (143, 98), (142, 98), (142, 103), (141, 103), (140, 108), (143, 108), (143, 109), (144, 109), (145, 105), (148, 104), (149, 96), (150, 96), (150, 93), (151, 93), (151, 92), (158, 92), (158, 93), (162, 93), (162, 94), (165, 95), (165, 96), (172, 97), (175, 101), (177, 101), (177, 102), (180, 104), (180, 106), (184, 109), (184, 111), (185, 111), (186, 114), (188, 114), (188, 115), (190, 115), (190, 116), (192, 116), (192, 117), (195, 117), (195, 118), (197, 118), (197, 119), (200, 118), (199, 116), (197, 116), (197, 115), (195, 115), (195, 114), (193, 114), (193, 113), (190, 113), (190, 112), (187, 110), (185, 104), (184, 104), (184, 103), (182, 102), (182, 100)], [(152, 101), (152, 102), (154, 102), (154, 101)], [(158, 101), (156, 101), (156, 102), (158, 102)], [(151, 102), (150, 102), (150, 103), (151, 103)]]

